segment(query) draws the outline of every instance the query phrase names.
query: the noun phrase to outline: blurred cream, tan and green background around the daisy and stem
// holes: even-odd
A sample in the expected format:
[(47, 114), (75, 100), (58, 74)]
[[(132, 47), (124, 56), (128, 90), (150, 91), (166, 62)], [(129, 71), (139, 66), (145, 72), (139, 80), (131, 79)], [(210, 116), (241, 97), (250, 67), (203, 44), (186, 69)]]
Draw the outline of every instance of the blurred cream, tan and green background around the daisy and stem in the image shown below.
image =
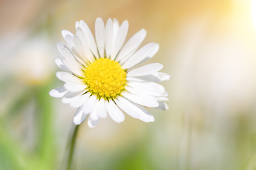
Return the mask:
[[(75, 169), (256, 169), (256, 6), (251, 0), (0, 1), (0, 169), (64, 169), (75, 109), (51, 98), (61, 30), (129, 21), (158, 42), (171, 81), (154, 123), (82, 123)], [(255, 13), (255, 16), (252, 15)], [(256, 21), (255, 21), (256, 22)]]

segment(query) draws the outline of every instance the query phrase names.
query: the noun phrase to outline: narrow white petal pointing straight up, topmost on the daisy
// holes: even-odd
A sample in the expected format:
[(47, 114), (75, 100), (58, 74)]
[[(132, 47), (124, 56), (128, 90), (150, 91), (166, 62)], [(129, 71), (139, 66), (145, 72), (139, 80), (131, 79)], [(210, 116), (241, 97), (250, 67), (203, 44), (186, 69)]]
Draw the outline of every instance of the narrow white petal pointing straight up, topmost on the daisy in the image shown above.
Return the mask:
[(105, 26), (102, 18), (97, 18), (95, 22), (95, 39), (100, 57), (105, 56)]

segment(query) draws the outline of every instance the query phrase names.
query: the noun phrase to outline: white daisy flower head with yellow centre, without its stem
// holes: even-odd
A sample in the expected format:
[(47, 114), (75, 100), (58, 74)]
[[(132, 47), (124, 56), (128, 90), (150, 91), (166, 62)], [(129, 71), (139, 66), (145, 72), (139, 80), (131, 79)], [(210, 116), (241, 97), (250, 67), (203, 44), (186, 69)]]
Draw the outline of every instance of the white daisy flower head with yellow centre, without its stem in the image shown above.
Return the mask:
[(128, 21), (119, 26), (115, 18), (108, 19), (105, 26), (102, 18), (97, 18), (95, 38), (85, 21), (77, 21), (75, 28), (76, 35), (62, 31), (68, 46), (57, 43), (61, 57), (55, 63), (64, 72), (57, 72), (56, 76), (65, 84), (50, 91), (50, 96), (63, 97), (63, 103), (78, 108), (75, 125), (90, 115), (87, 123), (93, 128), (107, 114), (121, 123), (123, 112), (153, 122), (153, 115), (145, 107), (168, 109), (164, 103), (168, 94), (164, 86), (156, 83), (170, 79), (169, 74), (159, 72), (163, 65), (152, 63), (134, 68), (159, 50), (159, 44), (154, 42), (138, 50), (146, 30), (139, 30), (124, 44)]

